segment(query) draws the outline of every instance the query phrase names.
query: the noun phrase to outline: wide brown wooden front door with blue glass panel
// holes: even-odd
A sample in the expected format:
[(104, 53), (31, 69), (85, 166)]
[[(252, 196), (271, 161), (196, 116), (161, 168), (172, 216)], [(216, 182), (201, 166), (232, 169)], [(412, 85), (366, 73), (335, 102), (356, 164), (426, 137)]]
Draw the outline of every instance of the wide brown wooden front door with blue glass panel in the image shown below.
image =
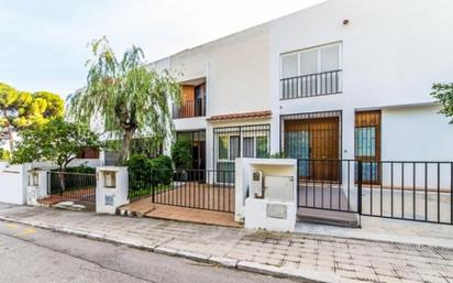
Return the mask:
[(316, 181), (340, 181), (340, 118), (288, 120), (285, 122), (288, 157), (301, 159), (299, 176)]

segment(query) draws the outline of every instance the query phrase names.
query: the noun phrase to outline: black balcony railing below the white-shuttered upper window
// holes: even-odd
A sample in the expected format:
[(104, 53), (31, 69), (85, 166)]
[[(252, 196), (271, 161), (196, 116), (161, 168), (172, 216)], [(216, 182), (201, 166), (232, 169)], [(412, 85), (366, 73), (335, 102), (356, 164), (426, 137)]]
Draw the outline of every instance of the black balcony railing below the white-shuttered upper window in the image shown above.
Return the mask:
[(280, 79), (280, 99), (334, 95), (342, 92), (342, 70), (330, 70)]

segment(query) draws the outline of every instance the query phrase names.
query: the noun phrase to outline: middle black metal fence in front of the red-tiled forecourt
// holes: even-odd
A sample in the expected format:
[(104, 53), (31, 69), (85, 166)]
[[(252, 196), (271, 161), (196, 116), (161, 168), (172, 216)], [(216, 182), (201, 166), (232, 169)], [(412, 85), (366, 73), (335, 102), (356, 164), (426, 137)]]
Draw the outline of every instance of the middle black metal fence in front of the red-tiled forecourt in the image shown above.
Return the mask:
[(155, 204), (234, 213), (234, 171), (154, 170), (130, 174), (130, 198)]

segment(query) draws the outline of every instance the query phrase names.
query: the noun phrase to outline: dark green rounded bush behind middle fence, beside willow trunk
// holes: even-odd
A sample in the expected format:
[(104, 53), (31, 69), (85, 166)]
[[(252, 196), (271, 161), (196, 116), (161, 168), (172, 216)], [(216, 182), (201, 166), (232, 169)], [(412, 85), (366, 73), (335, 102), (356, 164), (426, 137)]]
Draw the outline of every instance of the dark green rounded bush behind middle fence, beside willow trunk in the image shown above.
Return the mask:
[(152, 186), (172, 182), (172, 160), (166, 155), (148, 159), (143, 154), (132, 155), (124, 165), (129, 171), (130, 191), (150, 191)]

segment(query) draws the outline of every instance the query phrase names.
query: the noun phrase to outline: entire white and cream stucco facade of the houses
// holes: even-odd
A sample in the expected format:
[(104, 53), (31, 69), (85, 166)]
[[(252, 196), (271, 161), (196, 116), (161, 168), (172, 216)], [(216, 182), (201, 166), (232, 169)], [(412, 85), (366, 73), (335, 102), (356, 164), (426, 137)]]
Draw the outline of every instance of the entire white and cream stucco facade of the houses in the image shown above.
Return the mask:
[[(331, 0), (156, 65), (181, 70), (181, 81), (206, 77), (207, 117), (270, 109), (272, 152), (279, 151), (280, 115), (341, 110), (341, 157), (354, 159), (355, 111), (384, 109), (383, 160), (453, 160), (452, 126), (429, 107), (404, 107), (431, 105), (432, 84), (452, 79), (451, 11), (450, 0)], [(342, 94), (280, 100), (280, 54), (333, 42), (342, 46)], [(212, 128), (240, 123), (175, 121), (176, 130), (207, 129), (208, 164)], [(421, 151), (424, 144), (435, 146)]]

